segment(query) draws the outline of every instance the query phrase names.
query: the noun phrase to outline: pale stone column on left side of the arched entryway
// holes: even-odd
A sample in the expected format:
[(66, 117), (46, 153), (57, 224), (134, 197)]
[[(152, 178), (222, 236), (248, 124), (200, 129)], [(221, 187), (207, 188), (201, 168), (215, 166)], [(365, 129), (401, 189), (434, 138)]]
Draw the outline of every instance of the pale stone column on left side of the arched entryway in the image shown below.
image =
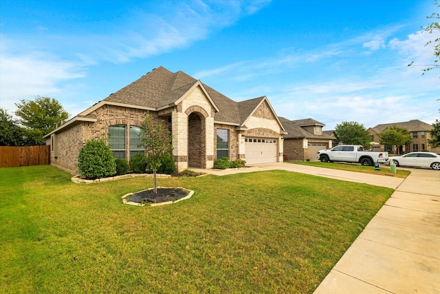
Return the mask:
[(173, 111), (173, 156), (177, 171), (188, 169), (188, 116), (184, 112)]

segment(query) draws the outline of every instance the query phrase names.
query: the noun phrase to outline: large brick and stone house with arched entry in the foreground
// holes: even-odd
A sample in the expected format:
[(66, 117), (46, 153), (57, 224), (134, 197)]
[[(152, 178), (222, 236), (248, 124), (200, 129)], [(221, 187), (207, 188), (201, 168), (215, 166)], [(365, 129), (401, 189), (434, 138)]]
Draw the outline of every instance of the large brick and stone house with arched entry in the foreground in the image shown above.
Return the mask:
[(144, 114), (164, 120), (177, 170), (210, 168), (216, 158), (248, 164), (283, 161), (283, 125), (265, 96), (236, 103), (184, 72), (158, 67), (45, 136), (51, 164), (78, 171), (78, 151), (107, 138), (115, 158), (143, 154)]

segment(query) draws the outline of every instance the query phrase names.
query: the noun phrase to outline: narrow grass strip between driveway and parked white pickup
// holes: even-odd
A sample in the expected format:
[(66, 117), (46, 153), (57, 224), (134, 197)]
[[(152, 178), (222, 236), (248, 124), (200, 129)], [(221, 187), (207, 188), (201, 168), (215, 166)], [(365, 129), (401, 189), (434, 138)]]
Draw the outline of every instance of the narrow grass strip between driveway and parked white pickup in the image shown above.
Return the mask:
[(375, 174), (380, 176), (393, 176), (396, 178), (406, 178), (410, 171), (397, 169), (397, 173), (393, 174), (389, 167), (380, 165), (380, 171), (376, 171), (374, 167), (365, 167), (359, 164), (351, 164), (344, 162), (320, 162), (320, 161), (285, 161), (287, 163), (294, 163), (295, 165), (309, 165), (311, 167), (325, 167), (327, 169), (340, 169), (343, 171), (357, 171), (365, 174)]

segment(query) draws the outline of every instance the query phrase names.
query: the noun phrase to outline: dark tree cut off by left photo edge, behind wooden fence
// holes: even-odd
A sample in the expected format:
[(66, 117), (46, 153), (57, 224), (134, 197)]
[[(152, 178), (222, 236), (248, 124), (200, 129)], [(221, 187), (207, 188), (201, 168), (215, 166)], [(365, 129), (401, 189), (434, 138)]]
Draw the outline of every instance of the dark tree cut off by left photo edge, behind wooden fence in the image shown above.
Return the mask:
[(0, 108), (0, 146), (22, 146), (23, 130), (19, 127), (17, 120), (12, 118), (8, 112)]

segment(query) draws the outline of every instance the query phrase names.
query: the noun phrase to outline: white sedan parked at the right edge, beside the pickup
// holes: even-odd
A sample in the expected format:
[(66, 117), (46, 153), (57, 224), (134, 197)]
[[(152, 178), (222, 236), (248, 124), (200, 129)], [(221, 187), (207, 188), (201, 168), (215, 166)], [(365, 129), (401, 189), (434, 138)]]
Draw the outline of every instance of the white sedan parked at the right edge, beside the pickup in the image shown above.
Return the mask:
[(440, 154), (434, 152), (410, 152), (402, 156), (390, 158), (399, 167), (430, 167), (440, 170)]

